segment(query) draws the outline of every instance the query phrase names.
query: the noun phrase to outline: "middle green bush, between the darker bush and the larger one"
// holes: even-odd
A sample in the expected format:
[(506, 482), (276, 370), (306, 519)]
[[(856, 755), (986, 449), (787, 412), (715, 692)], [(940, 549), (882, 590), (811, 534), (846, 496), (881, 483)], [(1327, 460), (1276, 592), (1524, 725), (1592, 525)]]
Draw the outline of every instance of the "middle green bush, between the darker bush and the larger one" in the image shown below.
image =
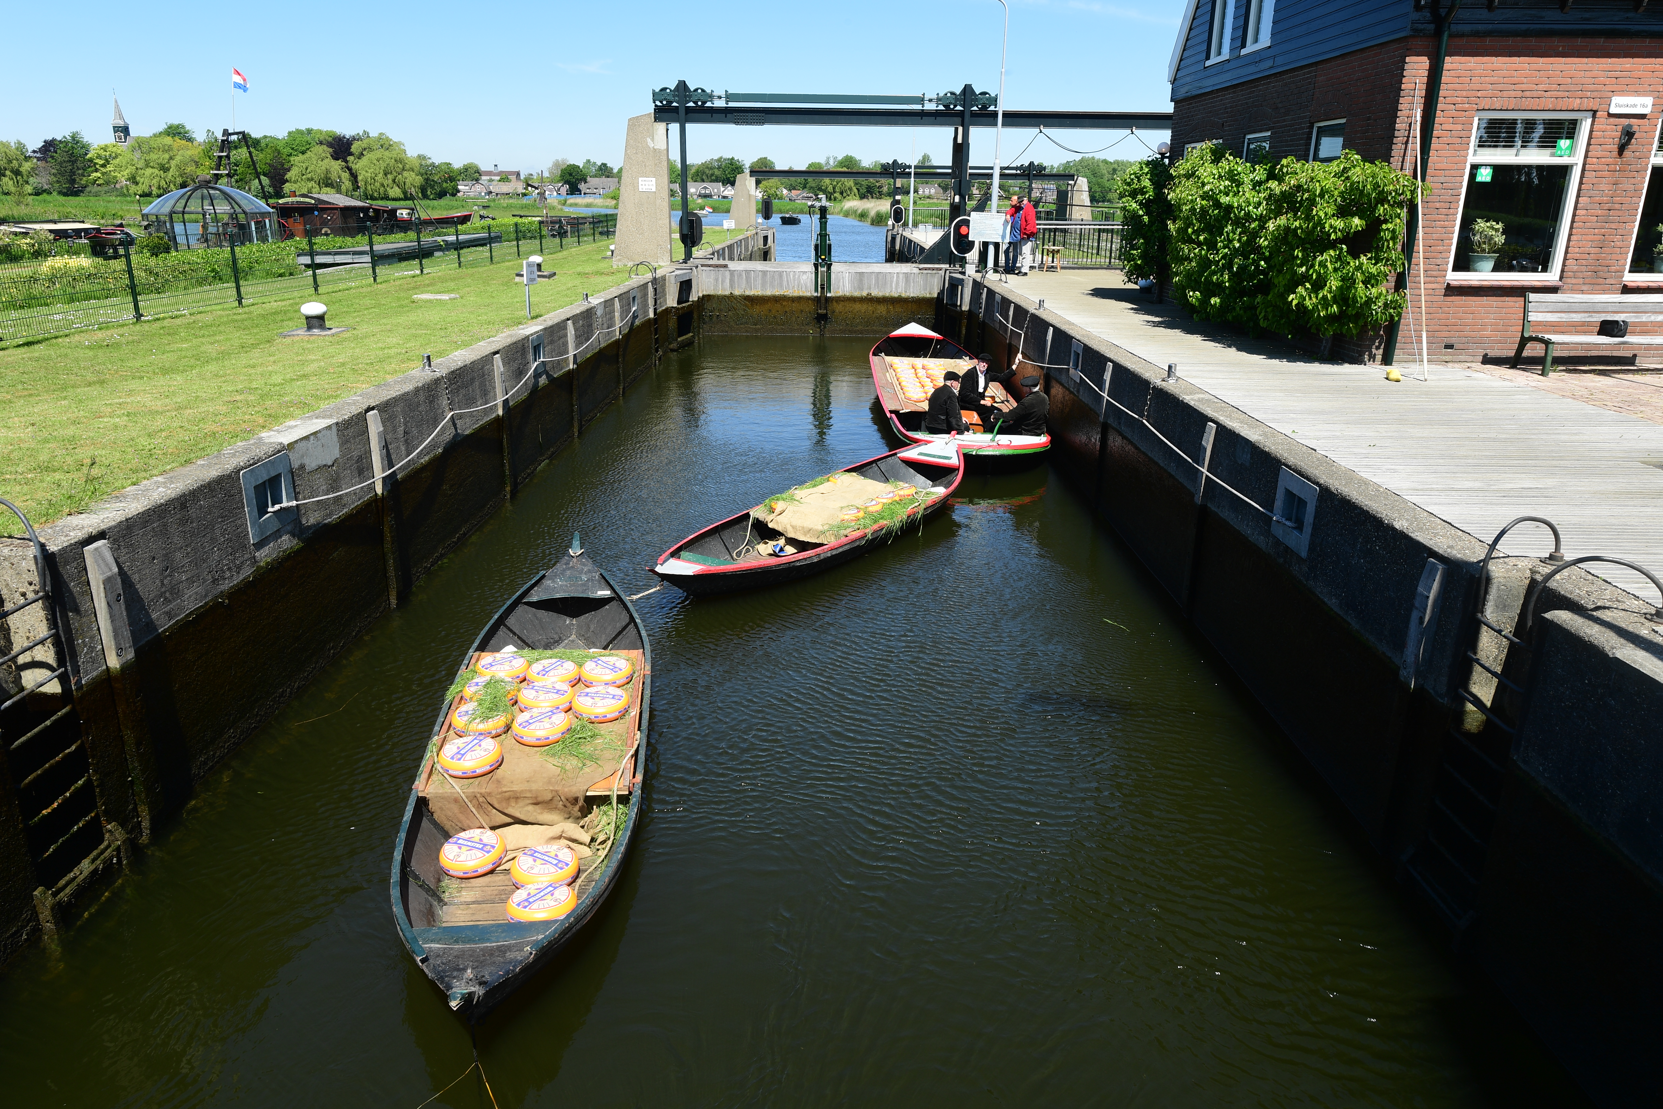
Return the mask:
[(1209, 143), (1172, 168), (1172, 284), (1201, 319), (1259, 323), (1264, 264), (1264, 166)]

